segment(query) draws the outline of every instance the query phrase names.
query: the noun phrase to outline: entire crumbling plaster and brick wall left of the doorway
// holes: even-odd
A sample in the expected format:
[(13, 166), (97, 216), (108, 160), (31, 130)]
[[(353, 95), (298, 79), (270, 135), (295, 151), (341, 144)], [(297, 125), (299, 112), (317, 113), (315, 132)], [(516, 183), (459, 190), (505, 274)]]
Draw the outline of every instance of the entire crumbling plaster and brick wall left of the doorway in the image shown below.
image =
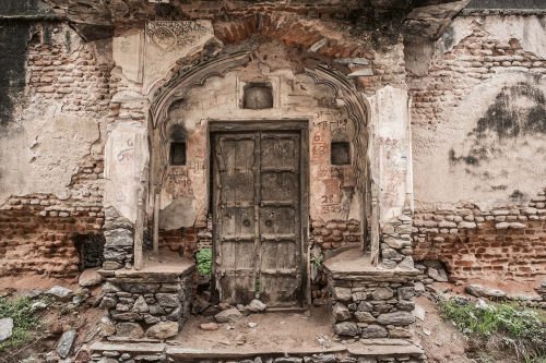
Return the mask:
[(79, 263), (72, 238), (104, 220), (109, 47), (62, 23), (23, 28), (24, 83), (0, 130), (1, 271), (68, 276)]

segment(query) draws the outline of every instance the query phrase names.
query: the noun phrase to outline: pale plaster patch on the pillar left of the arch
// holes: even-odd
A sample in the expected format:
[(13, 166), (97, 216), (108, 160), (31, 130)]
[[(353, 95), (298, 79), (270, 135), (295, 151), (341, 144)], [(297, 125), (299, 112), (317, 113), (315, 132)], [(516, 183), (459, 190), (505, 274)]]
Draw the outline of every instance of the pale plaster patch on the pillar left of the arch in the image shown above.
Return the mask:
[[(150, 160), (147, 130), (139, 122), (110, 125), (105, 147), (105, 207), (114, 206), (124, 218), (136, 220), (139, 189)], [(144, 184), (145, 185), (145, 184)]]

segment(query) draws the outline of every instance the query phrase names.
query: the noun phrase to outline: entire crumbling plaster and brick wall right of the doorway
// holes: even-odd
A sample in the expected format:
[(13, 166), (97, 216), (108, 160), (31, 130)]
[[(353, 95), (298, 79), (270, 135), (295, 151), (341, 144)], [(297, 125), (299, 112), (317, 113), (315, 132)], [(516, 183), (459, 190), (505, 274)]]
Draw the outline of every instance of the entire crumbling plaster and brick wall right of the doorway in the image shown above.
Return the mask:
[(453, 278), (546, 274), (544, 49), (544, 16), (461, 16), (408, 63), (414, 256)]

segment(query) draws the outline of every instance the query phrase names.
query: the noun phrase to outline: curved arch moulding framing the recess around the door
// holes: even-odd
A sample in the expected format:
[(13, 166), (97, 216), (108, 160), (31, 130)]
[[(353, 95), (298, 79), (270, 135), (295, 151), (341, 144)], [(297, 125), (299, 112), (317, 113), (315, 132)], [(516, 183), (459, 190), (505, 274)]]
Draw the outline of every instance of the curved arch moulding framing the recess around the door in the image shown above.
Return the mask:
[[(169, 108), (175, 102), (182, 100), (193, 87), (204, 85), (207, 78), (214, 76), (224, 77), (228, 72), (248, 64), (252, 60), (251, 55), (257, 46), (256, 43), (227, 46), (222, 51), (214, 55), (203, 55), (191, 64), (185, 65), (173, 72), (171, 77), (161, 87), (155, 89), (151, 99), (150, 124), (158, 131), (161, 136), (161, 147), (158, 150), (159, 165), (152, 168), (152, 182), (156, 191), (161, 190), (164, 183), (168, 165), (167, 124), (169, 121)], [(330, 59), (330, 62), (332, 61), (333, 60)], [(346, 109), (354, 125), (356, 136), (354, 149), (356, 153), (355, 158), (353, 158), (353, 166), (355, 168), (357, 187), (361, 191), (361, 195), (364, 196), (364, 201), (361, 201), (364, 209), (361, 213), (361, 235), (365, 237), (368, 230), (366, 215), (370, 211), (373, 213), (369, 183), (369, 168), (371, 164), (367, 156), (367, 147), (370, 144), (370, 131), (368, 126), (369, 107), (366, 105), (366, 99), (363, 94), (357, 89), (355, 82), (339, 69), (332, 65), (317, 63), (316, 60), (309, 63), (313, 65), (305, 68), (302, 74), (309, 76), (316, 84), (325, 85), (331, 88), (334, 95), (336, 95), (336, 98), (341, 100), (342, 106)], [(156, 158), (154, 159), (157, 160)], [(157, 206), (155, 209), (158, 213)], [(154, 216), (154, 220), (157, 218), (157, 215)], [(378, 217), (372, 215), (372, 220), (378, 220)], [(376, 228), (372, 226), (370, 237), (372, 250), (377, 250), (375, 253), (376, 262), (379, 252), (379, 232), (377, 230), (377, 226)]]

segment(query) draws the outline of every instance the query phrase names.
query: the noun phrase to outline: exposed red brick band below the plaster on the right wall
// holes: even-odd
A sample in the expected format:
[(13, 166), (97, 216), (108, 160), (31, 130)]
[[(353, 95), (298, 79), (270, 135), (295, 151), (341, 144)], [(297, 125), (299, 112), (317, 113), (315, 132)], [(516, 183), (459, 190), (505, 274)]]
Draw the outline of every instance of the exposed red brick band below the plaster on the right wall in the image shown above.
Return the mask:
[(534, 280), (546, 271), (546, 196), (480, 210), (466, 204), (414, 216), (414, 258), (438, 259), (452, 279)]

